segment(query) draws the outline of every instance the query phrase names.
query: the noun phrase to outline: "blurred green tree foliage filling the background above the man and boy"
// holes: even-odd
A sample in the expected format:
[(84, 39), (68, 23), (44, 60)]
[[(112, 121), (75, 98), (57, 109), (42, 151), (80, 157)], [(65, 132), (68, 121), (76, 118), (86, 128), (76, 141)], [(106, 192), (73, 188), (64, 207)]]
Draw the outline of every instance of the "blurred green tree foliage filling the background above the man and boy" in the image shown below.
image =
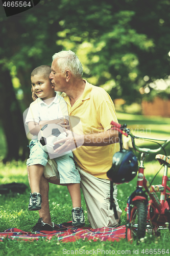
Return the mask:
[[(169, 76), (169, 5), (169, 0), (42, 0), (8, 18), (0, 9), (0, 72), (2, 77), (7, 70), (13, 81), (18, 113), (32, 101), (31, 71), (50, 65), (52, 55), (62, 49), (75, 51), (83, 77), (102, 86), (113, 100), (129, 104), (145, 95), (168, 97), (169, 86), (155, 90), (154, 84)], [(4, 80), (0, 83), (6, 86)]]

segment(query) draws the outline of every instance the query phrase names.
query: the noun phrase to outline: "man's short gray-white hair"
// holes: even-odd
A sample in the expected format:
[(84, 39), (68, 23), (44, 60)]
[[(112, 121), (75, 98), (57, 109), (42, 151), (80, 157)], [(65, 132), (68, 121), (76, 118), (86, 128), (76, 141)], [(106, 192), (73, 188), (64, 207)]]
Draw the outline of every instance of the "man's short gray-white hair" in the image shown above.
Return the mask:
[(83, 66), (78, 56), (74, 52), (70, 50), (61, 51), (55, 53), (52, 58), (53, 60), (57, 59), (57, 64), (63, 71), (70, 70), (75, 77), (82, 77)]

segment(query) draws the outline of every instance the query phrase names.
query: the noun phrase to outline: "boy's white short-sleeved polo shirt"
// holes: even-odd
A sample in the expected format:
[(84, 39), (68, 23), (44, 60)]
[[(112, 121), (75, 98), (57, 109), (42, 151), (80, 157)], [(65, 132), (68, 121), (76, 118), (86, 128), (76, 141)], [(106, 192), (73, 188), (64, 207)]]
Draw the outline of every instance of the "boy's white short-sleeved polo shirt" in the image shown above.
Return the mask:
[[(25, 124), (28, 125), (29, 122), (37, 122), (46, 121), (46, 120), (55, 120), (59, 118), (68, 119), (68, 110), (67, 103), (65, 100), (57, 95), (54, 100), (47, 105), (41, 98), (37, 98), (34, 102), (30, 104), (30, 108), (28, 110)], [(34, 135), (32, 139), (37, 139), (38, 136)]]

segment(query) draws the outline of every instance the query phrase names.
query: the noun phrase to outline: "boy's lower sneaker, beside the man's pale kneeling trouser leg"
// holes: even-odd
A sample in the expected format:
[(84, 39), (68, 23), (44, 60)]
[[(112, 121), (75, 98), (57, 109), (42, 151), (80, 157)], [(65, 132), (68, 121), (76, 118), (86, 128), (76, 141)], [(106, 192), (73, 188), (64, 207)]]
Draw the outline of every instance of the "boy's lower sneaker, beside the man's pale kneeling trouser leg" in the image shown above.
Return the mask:
[(82, 207), (72, 208), (71, 214), (72, 214), (72, 226), (83, 227), (85, 222), (84, 222), (84, 212)]

